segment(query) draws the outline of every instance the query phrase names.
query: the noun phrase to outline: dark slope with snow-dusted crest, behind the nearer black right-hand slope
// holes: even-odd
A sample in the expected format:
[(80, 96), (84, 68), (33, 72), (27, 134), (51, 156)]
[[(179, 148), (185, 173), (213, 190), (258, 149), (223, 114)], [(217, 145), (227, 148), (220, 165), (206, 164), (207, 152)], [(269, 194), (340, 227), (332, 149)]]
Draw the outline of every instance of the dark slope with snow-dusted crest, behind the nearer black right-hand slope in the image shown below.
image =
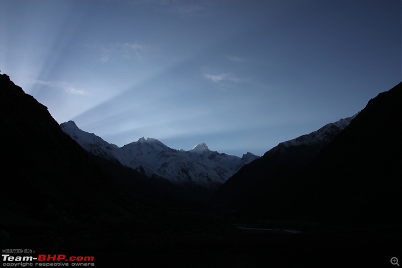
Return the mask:
[(221, 205), (245, 204), (266, 189), (271, 192), (279, 182), (306, 167), (355, 116), (330, 123), (295, 139), (281, 142), (261, 158), (243, 166), (217, 191), (215, 202)]

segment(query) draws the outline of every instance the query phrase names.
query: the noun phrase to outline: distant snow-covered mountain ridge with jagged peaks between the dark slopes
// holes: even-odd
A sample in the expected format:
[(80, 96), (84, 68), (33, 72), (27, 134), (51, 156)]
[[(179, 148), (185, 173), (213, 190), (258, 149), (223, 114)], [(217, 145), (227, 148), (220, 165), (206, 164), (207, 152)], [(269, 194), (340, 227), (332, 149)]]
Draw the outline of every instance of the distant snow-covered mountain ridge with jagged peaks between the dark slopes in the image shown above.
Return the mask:
[(136, 169), (148, 176), (161, 176), (173, 184), (215, 189), (258, 156), (243, 157), (212, 151), (199, 143), (189, 151), (172, 149), (154, 138), (144, 137), (118, 147), (93, 133), (80, 130), (73, 121), (60, 124), (62, 130), (85, 150)]

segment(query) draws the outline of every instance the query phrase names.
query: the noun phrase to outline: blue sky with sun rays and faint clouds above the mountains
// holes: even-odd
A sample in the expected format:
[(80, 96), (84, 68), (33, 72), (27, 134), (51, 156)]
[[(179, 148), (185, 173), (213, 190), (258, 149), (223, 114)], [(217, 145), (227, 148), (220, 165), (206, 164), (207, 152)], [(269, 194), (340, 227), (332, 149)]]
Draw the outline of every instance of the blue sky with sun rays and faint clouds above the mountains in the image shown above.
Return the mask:
[(0, 69), (123, 146), (262, 155), (402, 76), (400, 0), (1, 0)]

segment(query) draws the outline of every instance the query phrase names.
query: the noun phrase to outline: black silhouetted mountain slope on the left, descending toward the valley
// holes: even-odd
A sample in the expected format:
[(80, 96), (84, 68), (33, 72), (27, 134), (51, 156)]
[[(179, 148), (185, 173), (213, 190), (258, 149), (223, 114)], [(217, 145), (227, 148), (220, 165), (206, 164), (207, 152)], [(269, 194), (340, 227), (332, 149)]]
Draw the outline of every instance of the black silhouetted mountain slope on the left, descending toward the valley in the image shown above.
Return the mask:
[(97, 225), (134, 215), (112, 177), (6, 74), (0, 102), (3, 226)]

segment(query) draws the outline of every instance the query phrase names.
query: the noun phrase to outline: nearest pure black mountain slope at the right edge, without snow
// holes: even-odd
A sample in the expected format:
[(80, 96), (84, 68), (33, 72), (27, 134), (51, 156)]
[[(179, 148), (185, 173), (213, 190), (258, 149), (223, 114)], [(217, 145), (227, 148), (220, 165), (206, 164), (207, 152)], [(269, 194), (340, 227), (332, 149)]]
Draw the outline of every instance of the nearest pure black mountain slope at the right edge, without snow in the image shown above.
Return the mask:
[[(371, 99), (302, 174), (299, 213), (400, 224), (402, 83)], [(299, 196), (302, 199), (302, 196)]]

